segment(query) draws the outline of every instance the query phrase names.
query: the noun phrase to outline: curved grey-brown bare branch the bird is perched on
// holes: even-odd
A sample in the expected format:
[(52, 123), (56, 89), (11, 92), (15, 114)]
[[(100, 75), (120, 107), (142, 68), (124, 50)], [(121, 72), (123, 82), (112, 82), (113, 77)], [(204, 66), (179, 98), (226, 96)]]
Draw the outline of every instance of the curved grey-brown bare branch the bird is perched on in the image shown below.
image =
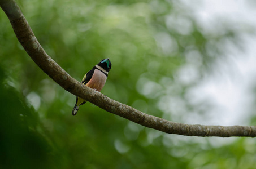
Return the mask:
[(19, 6), (14, 0), (0, 0), (0, 6), (5, 11), (12, 28), (21, 45), (27, 51), (31, 59), (42, 69), (51, 79), (58, 83), (64, 90), (73, 95), (79, 96), (107, 112), (119, 115), (142, 126), (154, 128), (168, 134), (185, 136), (217, 136), (217, 137), (255, 137), (256, 126), (202, 126), (189, 125), (167, 121), (159, 117), (140, 112), (131, 106), (119, 103), (109, 97), (86, 87), (73, 79), (63, 70), (50, 56), (46, 54), (44, 48), (37, 41), (27, 20), (22, 14)]

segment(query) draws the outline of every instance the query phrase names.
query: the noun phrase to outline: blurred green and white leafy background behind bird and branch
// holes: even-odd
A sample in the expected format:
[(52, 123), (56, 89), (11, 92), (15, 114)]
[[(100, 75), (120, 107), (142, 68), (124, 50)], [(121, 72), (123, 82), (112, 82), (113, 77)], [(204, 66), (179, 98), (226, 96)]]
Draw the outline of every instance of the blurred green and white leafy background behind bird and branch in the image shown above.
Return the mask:
[[(188, 124), (255, 125), (254, 1), (18, 1), (42, 47), (102, 93)], [(1, 168), (256, 168), (252, 138), (187, 137), (86, 103), (33, 63), (0, 10)]]

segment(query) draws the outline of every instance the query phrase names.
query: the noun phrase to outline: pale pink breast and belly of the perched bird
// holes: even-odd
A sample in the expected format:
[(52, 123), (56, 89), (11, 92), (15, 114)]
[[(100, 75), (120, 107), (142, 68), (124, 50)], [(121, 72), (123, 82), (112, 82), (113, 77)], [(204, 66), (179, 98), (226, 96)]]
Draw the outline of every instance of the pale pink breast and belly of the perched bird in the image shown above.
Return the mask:
[(107, 76), (101, 72), (101, 70), (95, 69), (92, 78), (86, 84), (90, 88), (95, 88), (97, 91), (101, 91), (106, 83)]

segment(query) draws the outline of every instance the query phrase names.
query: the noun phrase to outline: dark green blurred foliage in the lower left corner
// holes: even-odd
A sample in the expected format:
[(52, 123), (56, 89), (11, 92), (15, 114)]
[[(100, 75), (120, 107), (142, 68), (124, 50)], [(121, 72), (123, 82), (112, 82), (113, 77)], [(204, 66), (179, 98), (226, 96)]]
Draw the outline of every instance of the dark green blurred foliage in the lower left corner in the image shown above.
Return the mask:
[(0, 167), (47, 168), (53, 163), (53, 148), (38, 114), (24, 105), (19, 92), (3, 83), (4, 74), (0, 69)]

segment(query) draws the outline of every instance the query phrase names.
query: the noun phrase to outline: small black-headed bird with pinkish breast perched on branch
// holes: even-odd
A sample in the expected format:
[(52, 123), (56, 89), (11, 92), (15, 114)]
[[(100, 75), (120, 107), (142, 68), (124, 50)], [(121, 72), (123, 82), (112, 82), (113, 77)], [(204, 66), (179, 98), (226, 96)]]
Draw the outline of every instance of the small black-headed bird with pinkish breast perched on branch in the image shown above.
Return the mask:
[[(96, 66), (94, 66), (92, 70), (84, 75), (81, 83), (100, 92), (106, 83), (107, 75), (109, 74), (111, 65), (112, 64), (109, 58), (103, 59)], [(72, 114), (76, 115), (80, 105), (85, 103), (86, 101), (84, 99), (76, 96), (76, 104), (73, 108)]]

